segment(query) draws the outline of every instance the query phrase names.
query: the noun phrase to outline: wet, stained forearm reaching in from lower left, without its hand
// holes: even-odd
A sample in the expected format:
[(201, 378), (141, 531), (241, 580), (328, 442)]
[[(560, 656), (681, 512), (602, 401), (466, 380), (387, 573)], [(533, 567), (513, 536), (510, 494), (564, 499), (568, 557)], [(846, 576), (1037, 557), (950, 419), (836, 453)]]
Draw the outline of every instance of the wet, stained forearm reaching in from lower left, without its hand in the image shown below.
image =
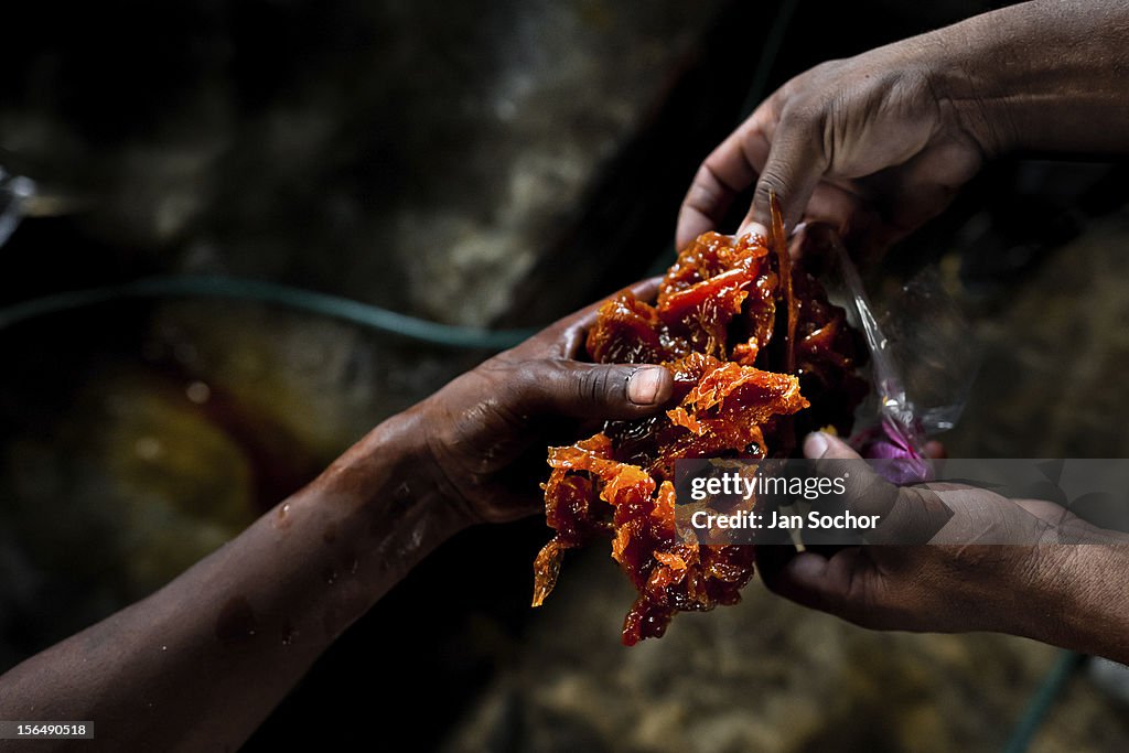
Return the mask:
[(107, 750), (237, 747), (314, 659), (467, 523), (413, 414), (168, 586), (0, 677), (0, 719), (90, 719)]

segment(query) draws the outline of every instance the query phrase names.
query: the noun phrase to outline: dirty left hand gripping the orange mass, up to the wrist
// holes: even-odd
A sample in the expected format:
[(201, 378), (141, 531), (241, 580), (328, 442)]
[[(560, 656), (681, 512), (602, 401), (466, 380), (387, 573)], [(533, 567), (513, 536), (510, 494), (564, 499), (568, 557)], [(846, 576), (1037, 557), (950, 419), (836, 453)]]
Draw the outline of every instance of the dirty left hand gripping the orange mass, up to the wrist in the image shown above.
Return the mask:
[[(631, 290), (648, 299), (657, 287), (656, 279)], [(557, 322), (412, 409), (443, 493), (472, 519), (535, 511), (546, 446), (575, 440), (578, 423), (640, 418), (671, 399), (673, 378), (660, 366), (577, 360), (598, 308)]]

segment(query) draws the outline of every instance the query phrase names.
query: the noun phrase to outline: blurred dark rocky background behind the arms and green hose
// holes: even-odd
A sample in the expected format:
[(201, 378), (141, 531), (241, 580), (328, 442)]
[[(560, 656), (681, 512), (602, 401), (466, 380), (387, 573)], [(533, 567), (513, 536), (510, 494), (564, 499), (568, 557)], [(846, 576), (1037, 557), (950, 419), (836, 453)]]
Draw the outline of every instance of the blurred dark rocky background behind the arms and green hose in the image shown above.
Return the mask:
[[(0, 166), (38, 193), (0, 247), (0, 306), (224, 273), (542, 325), (671, 257), (690, 177), (751, 88), (998, 5), (21, 3)], [(1124, 175), (992, 165), (874, 277), (896, 297), (936, 263), (984, 342), (954, 455), (1129, 450), (1110, 420), (1129, 366)], [(489, 354), (195, 299), (25, 321), (0, 353), (0, 671), (159, 587)], [(531, 612), (546, 537), (532, 519), (450, 542), (247, 750), (995, 750), (1053, 659), (997, 636), (866, 633), (758, 584), (627, 650), (630, 589), (604, 552), (570, 559)], [(1123, 747), (1122, 716), (1078, 680), (1038, 750)]]

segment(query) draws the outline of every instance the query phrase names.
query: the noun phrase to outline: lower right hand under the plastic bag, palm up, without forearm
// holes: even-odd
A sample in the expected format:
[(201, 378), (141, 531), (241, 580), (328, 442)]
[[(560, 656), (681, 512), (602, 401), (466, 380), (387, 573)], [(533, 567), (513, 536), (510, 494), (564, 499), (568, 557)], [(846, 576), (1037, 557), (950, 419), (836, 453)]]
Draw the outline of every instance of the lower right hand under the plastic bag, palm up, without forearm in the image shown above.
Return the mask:
[(872, 629), (992, 630), (1052, 641), (1058, 623), (1047, 623), (1048, 615), (1099, 585), (1079, 569), (1079, 544), (1111, 543), (1110, 532), (1052, 502), (954, 483), (894, 487), (858, 473), (861, 458), (822, 434), (804, 450), (821, 475), (841, 476), (849, 464), (848, 509), (882, 523), (867, 535), (874, 543), (831, 553), (759, 548), (762, 579), (787, 598)]

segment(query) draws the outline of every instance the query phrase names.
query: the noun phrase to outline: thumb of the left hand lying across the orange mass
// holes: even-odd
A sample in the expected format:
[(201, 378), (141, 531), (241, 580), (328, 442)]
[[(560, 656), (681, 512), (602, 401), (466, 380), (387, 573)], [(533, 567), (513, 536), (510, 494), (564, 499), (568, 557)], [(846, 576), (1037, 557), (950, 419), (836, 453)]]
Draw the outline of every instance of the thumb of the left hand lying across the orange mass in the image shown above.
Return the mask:
[(578, 419), (649, 415), (674, 392), (674, 377), (662, 366), (554, 360), (524, 371), (527, 408)]

